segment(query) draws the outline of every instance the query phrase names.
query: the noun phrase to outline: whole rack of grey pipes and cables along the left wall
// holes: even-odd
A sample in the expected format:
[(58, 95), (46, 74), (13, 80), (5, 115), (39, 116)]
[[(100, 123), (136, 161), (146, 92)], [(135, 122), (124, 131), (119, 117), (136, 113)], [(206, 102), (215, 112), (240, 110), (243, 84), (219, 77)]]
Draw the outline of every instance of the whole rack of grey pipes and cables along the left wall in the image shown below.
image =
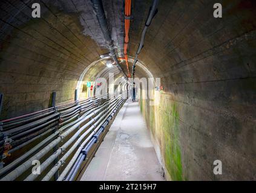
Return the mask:
[[(22, 136), (22, 132), (38, 132), (37, 128), (39, 128), (40, 125), (43, 125), (45, 128), (45, 125), (53, 124), (54, 121), (57, 122), (57, 125), (45, 129), (43, 133), (39, 132), (37, 135), (34, 134), (32, 139), (29, 138), (27, 141), (24, 141), (13, 149), (8, 150), (7, 153), (13, 153), (13, 150), (19, 150), (25, 145), (30, 144), (31, 141), (35, 141), (42, 136), (45, 137), (41, 142), (34, 145), (33, 148), (24, 153), (22, 156), (0, 169), (0, 176), (2, 177), (1, 180), (17, 179), (31, 168), (31, 163), (33, 160), (40, 160), (42, 157), (48, 155), (57, 144), (64, 142), (60, 148), (54, 151), (54, 153), (41, 164), (41, 171), (44, 171), (56, 159), (58, 159), (59, 156), (66, 151), (66, 149), (68, 150), (67, 153), (61, 157), (61, 160), (59, 160), (59, 162), (57, 162), (57, 164), (50, 169), (47, 176), (44, 177), (44, 180), (50, 180), (56, 171), (63, 166), (63, 163), (67, 157), (70, 156), (74, 150), (76, 150), (79, 142), (85, 145), (90, 138), (96, 134), (96, 131), (102, 127), (105, 119), (108, 119), (107, 116), (110, 115), (110, 113), (113, 113), (113, 111), (116, 110), (121, 103), (123, 103), (126, 96), (119, 95), (118, 97), (112, 99), (108, 98), (109, 97), (107, 96), (102, 98), (90, 98), (84, 101), (75, 101), (74, 103), (63, 104), (61, 106), (43, 110), (41, 112), (31, 113), (19, 118), (2, 121), (2, 130), (5, 132), (4, 145), (6, 145), (6, 139), (8, 139), (8, 136), (13, 136), (13, 133), (15, 133), (17, 138), (17, 140), (14, 141), (16, 142), (20, 140), (19, 137)], [(55, 115), (57, 115), (57, 119)], [(49, 119), (49, 117), (51, 117), (51, 119)], [(36, 124), (36, 121), (40, 122), (40, 124)], [(65, 124), (63, 124), (64, 122)], [(80, 127), (81, 124), (84, 125)], [(91, 127), (87, 129), (89, 125), (91, 125)], [(94, 131), (93, 128), (95, 128)], [(73, 136), (71, 136), (71, 138), (67, 138), (69, 134), (73, 132), (75, 132)], [(79, 136), (80, 134), (81, 136)], [(85, 139), (88, 134), (90, 135)], [(73, 144), (74, 141), (76, 142)], [(71, 144), (73, 144), (72, 147), (70, 147)], [(67, 169), (64, 169), (59, 179), (62, 179), (62, 176), (65, 177), (67, 172), (70, 170), (69, 168), (71, 168), (73, 162), (75, 161), (76, 159), (73, 157), (70, 162), (72, 164), (68, 163), (66, 167)], [(31, 172), (29, 171), (28, 173)], [(37, 177), (37, 175), (30, 174), (25, 180), (35, 180)]]

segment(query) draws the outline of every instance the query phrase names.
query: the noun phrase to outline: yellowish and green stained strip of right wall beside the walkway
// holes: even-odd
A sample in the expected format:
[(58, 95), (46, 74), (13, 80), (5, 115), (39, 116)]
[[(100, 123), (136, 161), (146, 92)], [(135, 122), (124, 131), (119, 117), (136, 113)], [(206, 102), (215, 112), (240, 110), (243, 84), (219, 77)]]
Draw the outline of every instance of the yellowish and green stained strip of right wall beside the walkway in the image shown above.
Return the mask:
[(155, 108), (149, 106), (146, 100), (140, 98), (140, 110), (146, 120), (146, 125), (148, 125), (153, 136), (158, 136), (157, 141), (159, 141), (165, 169), (168, 173), (166, 174), (167, 179), (185, 180), (182, 174), (177, 104), (170, 103), (169, 100), (162, 98), (160, 105), (157, 107), (157, 111), (160, 113), (158, 119), (155, 117)]

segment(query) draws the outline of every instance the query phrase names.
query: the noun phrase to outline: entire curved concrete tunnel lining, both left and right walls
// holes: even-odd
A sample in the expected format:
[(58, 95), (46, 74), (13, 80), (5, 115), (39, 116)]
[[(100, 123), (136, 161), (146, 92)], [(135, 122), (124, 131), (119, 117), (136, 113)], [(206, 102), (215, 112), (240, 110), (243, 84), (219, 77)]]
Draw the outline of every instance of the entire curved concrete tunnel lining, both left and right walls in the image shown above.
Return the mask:
[[(73, 101), (84, 69), (108, 52), (100, 33), (98, 39), (83, 34), (82, 19), (91, 30), (97, 21), (79, 8), (82, 1), (77, 11), (64, 1), (43, 1), (40, 19), (31, 19), (29, 4), (16, 14), (21, 2), (15, 2), (1, 2), (1, 119), (47, 108), (53, 91), (57, 104)], [(221, 19), (212, 16), (215, 1), (160, 1), (139, 55), (163, 86), (159, 106), (140, 100), (140, 108), (168, 180), (255, 180), (255, 2), (218, 2)], [(132, 4), (128, 53), (134, 57), (151, 2)], [(102, 68), (93, 66), (84, 80), (93, 81)], [(148, 75), (136, 67), (136, 77)]]

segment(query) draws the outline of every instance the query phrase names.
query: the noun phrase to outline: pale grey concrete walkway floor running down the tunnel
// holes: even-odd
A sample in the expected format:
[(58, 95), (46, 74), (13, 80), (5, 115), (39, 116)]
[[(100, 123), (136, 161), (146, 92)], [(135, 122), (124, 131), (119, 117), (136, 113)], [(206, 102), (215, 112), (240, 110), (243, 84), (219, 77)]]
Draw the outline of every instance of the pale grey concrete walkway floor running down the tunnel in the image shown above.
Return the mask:
[(81, 180), (164, 180), (138, 102), (120, 109)]

